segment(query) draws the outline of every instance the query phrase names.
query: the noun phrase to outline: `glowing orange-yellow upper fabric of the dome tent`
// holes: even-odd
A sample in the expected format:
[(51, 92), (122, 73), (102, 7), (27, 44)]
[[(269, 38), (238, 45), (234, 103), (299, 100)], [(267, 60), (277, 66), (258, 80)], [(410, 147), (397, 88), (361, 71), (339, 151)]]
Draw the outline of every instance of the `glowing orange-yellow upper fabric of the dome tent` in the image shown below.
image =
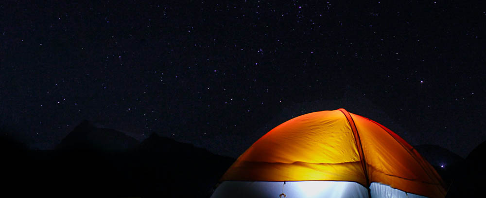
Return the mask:
[(295, 117), (263, 135), (221, 181), (380, 182), (407, 193), (443, 198), (440, 176), (388, 128), (345, 109)]

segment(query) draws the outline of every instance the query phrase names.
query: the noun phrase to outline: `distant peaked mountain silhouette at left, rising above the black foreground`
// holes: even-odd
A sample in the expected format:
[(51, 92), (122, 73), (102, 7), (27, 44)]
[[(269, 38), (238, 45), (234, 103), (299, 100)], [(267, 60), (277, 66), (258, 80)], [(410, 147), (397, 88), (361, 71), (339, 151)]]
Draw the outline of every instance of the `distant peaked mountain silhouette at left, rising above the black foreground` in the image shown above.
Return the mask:
[(126, 150), (139, 141), (124, 133), (83, 120), (58, 144), (56, 150)]

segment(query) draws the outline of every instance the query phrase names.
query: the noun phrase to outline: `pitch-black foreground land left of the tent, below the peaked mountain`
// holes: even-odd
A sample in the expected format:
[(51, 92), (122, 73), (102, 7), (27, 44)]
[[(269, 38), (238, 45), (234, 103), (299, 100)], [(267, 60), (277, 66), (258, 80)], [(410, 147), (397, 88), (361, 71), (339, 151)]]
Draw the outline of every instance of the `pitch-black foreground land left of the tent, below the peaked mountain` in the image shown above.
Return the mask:
[(234, 161), (189, 144), (173, 141), (164, 146), (29, 151), (2, 144), (0, 188), (15, 197), (204, 198)]

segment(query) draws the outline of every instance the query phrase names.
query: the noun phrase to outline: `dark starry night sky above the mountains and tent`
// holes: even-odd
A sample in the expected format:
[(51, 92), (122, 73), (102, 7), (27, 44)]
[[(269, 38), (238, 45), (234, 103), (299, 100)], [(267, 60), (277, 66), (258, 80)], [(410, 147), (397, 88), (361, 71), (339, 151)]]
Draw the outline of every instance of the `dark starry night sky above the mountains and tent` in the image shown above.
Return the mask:
[(482, 3), (357, 2), (2, 1), (2, 135), (52, 149), (87, 119), (236, 157), (346, 108), (466, 157), (486, 140)]

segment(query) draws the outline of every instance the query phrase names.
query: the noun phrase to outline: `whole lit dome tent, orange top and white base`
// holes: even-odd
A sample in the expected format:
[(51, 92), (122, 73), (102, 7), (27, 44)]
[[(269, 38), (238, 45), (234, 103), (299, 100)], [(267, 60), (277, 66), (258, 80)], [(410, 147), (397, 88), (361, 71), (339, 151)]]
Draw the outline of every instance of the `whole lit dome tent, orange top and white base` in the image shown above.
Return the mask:
[(340, 108), (295, 117), (229, 167), (211, 198), (444, 198), (434, 168), (397, 134)]

